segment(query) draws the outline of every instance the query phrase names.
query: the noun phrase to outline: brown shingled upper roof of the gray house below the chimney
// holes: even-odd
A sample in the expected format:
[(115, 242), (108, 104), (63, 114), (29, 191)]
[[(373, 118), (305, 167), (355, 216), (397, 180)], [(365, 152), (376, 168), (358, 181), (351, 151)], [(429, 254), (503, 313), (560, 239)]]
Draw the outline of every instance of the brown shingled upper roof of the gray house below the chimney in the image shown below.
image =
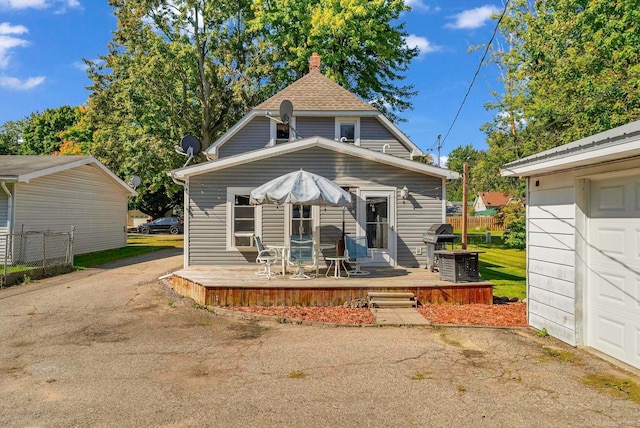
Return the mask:
[(294, 111), (378, 111), (318, 70), (296, 80), (255, 110), (278, 111), (283, 100), (291, 101)]

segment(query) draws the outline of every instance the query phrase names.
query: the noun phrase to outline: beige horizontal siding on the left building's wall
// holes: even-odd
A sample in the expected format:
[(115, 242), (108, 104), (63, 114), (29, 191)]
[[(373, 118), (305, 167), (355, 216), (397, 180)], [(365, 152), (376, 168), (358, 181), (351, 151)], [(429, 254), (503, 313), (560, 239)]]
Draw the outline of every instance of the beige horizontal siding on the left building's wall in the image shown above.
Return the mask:
[(14, 231), (69, 231), (74, 253), (120, 248), (127, 243), (128, 195), (90, 165), (18, 183)]

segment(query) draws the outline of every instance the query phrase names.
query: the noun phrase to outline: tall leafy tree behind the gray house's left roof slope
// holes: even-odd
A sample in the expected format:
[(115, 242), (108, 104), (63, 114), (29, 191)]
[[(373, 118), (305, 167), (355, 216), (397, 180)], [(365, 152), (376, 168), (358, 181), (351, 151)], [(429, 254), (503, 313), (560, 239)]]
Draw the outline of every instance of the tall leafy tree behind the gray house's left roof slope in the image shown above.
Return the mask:
[[(204, 148), (260, 99), (246, 0), (110, 0), (118, 30), (91, 64), (93, 152), (122, 177), (138, 175), (137, 207), (153, 217), (179, 203), (166, 175), (186, 134)], [(258, 83), (255, 83), (258, 82)], [(163, 197), (164, 195), (164, 197)]]

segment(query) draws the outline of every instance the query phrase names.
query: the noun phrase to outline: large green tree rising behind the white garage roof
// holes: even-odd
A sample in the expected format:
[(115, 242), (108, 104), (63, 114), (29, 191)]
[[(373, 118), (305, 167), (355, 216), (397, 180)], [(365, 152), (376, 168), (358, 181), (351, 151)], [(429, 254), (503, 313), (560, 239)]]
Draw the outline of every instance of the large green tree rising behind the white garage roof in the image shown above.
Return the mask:
[(512, 0), (492, 60), (504, 90), (487, 108), (473, 175), (522, 193), (501, 165), (640, 118), (640, 1)]

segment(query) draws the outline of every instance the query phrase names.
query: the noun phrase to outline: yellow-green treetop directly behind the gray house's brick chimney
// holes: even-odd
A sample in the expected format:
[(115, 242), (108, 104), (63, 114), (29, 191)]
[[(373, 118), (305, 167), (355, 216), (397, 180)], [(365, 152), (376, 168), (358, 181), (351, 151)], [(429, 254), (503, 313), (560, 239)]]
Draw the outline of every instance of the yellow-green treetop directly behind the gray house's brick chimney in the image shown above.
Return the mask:
[(325, 75), (369, 101), (392, 120), (411, 108), (413, 85), (404, 72), (418, 55), (409, 48), (403, 0), (255, 0), (252, 28), (260, 31), (280, 89), (304, 75), (313, 52)]

